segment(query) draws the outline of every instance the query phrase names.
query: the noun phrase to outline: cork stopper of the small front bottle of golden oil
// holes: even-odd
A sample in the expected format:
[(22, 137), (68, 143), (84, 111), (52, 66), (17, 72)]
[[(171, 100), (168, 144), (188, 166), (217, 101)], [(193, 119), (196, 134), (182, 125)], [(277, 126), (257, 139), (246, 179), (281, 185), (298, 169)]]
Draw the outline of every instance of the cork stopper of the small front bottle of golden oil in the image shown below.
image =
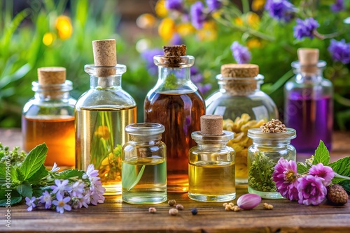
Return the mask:
[(203, 115), (200, 117), (202, 135), (222, 135), (223, 117), (220, 115)]

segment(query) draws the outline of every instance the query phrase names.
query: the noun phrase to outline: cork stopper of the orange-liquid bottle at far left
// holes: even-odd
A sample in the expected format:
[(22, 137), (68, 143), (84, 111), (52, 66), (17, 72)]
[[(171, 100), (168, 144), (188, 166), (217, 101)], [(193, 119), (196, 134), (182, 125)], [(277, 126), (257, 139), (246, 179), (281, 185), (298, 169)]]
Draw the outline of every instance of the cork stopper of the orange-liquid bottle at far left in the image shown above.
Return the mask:
[(66, 68), (41, 67), (38, 68), (38, 83), (40, 85), (63, 84), (66, 82)]

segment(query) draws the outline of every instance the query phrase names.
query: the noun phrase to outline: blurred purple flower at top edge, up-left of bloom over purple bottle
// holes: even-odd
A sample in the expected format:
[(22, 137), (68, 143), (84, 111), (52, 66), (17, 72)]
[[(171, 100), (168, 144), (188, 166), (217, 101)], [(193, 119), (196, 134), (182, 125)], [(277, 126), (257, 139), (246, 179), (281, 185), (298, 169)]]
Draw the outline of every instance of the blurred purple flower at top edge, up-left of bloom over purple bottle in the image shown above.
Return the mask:
[(294, 5), (287, 0), (267, 0), (265, 9), (271, 17), (284, 22), (289, 22), (295, 13)]

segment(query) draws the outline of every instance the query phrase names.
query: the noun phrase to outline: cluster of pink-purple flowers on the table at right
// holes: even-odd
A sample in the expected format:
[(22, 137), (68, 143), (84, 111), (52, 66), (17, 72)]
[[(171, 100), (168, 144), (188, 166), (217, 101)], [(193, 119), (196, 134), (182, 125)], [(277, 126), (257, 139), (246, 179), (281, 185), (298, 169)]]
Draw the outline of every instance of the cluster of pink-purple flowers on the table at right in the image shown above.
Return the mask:
[(280, 158), (274, 167), (272, 180), (282, 197), (305, 205), (318, 205), (327, 195), (327, 188), (335, 176), (331, 167), (322, 163), (312, 165), (308, 174), (297, 174), (297, 164), (293, 160)]

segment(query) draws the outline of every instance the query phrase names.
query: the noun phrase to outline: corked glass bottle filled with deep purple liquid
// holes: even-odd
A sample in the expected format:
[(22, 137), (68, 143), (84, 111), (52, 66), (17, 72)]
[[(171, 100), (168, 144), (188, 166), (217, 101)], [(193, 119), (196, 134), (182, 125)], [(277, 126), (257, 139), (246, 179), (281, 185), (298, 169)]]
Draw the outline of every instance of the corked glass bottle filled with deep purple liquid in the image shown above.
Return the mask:
[(323, 78), (325, 61), (313, 48), (297, 50), (299, 61), (292, 63), (295, 76), (284, 87), (284, 123), (297, 131), (293, 146), (298, 153), (313, 154), (320, 140), (332, 144), (333, 87)]

